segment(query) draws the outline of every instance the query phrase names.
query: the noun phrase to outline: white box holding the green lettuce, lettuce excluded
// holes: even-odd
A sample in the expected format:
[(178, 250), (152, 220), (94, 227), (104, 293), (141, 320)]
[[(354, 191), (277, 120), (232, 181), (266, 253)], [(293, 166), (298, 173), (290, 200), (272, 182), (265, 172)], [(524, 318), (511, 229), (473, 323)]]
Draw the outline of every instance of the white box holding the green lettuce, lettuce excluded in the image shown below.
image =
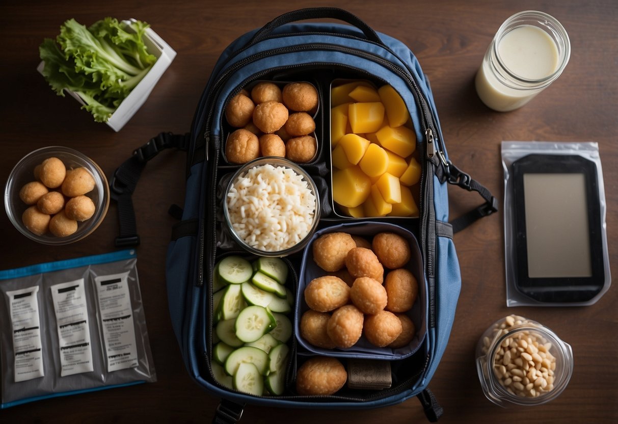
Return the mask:
[[(135, 19), (131, 20), (134, 21)], [(148, 53), (154, 54), (157, 57), (157, 60), (148, 74), (142, 78), (135, 88), (133, 88), (125, 100), (123, 100), (118, 106), (116, 111), (114, 111), (108, 122), (106, 122), (106, 124), (108, 124), (108, 126), (114, 131), (121, 130), (122, 127), (129, 122), (129, 119), (135, 115), (135, 112), (142, 107), (142, 104), (145, 103), (146, 99), (150, 95), (150, 92), (153, 88), (155, 88), (159, 78), (161, 78), (163, 73), (174, 60), (174, 57), (176, 57), (176, 51), (172, 49), (165, 41), (163, 41), (163, 39), (152, 30), (152, 28), (146, 28), (144, 43), (146, 48), (148, 48)], [(36, 70), (38, 70), (40, 74), (43, 74), (43, 67), (44, 62), (41, 62), (39, 66), (36, 67)], [(66, 91), (79, 103), (85, 104), (79, 95), (70, 90)]]

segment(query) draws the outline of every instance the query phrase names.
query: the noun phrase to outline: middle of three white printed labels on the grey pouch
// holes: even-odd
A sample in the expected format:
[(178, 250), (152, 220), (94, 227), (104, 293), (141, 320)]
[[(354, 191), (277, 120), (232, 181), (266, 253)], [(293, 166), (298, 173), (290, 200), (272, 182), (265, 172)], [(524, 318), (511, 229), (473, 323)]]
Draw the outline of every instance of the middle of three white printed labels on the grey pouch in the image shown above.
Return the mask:
[(93, 371), (88, 306), (83, 278), (51, 286), (54, 300), (58, 343), (60, 347), (60, 375)]

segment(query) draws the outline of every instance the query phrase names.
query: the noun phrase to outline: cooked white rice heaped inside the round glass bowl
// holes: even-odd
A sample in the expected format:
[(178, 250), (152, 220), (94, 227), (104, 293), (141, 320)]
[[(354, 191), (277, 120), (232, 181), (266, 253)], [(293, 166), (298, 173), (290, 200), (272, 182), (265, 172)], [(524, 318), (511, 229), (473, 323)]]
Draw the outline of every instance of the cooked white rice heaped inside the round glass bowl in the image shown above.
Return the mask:
[(232, 228), (245, 242), (263, 252), (298, 244), (315, 219), (315, 196), (294, 170), (266, 164), (237, 177), (227, 194)]

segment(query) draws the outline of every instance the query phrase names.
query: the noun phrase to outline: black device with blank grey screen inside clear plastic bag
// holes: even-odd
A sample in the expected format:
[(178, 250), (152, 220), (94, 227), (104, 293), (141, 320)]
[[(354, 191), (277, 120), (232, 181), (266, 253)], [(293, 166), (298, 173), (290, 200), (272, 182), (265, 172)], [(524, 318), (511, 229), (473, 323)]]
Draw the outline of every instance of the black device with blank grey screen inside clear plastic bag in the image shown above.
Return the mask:
[(605, 284), (595, 163), (531, 154), (512, 164), (515, 288), (539, 302), (586, 302)]

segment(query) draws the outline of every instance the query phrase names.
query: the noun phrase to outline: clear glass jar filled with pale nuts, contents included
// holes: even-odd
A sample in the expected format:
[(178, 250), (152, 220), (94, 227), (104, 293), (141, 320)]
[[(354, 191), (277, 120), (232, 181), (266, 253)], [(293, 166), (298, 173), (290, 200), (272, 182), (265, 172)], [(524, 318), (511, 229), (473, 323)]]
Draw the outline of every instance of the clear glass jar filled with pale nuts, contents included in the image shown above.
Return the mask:
[[(539, 362), (539, 357), (541, 365), (530, 375), (532, 363)], [(523, 368), (526, 363), (527, 369)], [(510, 315), (489, 326), (481, 336), (476, 346), (476, 371), (483, 393), (494, 404), (541, 405), (555, 399), (569, 384), (573, 351), (546, 326)]]

